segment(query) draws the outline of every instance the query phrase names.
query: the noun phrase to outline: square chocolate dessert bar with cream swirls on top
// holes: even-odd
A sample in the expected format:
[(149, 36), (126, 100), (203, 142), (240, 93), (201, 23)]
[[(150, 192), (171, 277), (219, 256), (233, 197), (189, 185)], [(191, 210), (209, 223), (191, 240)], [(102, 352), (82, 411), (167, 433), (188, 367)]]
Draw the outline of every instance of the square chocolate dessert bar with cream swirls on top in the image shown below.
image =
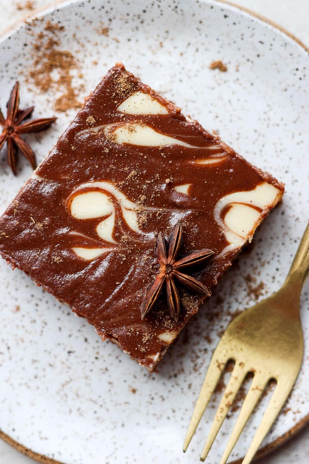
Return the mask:
[(159, 232), (214, 251), (186, 271), (211, 289), (283, 193), (120, 63), (0, 218), (0, 253), (152, 370), (205, 300), (177, 283), (178, 320), (164, 288), (142, 319)]

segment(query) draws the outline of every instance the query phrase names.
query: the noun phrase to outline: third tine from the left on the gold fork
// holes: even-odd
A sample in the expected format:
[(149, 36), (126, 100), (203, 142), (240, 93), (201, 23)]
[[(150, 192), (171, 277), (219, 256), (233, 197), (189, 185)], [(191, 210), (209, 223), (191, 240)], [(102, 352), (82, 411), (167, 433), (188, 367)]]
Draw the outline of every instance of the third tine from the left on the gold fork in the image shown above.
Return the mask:
[(236, 441), (238, 440), (240, 433), (245, 427), (247, 420), (252, 414), (253, 409), (255, 408), (261, 394), (263, 393), (268, 379), (262, 374), (255, 374), (246, 398), (241, 406), (239, 416), (237, 418), (236, 424), (233, 427), (233, 431), (228, 439), (227, 446), (224, 450), (223, 456), (221, 458), (220, 464), (225, 464), (227, 458), (231, 454), (233, 447), (235, 446)]

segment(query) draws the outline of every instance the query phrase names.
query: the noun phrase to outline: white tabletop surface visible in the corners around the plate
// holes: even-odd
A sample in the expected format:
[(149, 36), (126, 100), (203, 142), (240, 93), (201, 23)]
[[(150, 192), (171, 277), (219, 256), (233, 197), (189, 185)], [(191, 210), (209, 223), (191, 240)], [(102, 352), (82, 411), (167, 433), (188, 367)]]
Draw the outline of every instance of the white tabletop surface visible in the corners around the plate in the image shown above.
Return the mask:
[[(289, 32), (296, 35), (305, 45), (309, 46), (308, 0), (234, 0), (234, 2), (280, 24)], [(50, 0), (0, 0), (2, 15), (0, 34), (25, 15), (33, 15), (36, 8), (49, 4), (52, 4)], [(29, 6), (33, 7), (33, 11), (31, 11)], [(198, 459), (196, 462), (198, 462)], [(303, 431), (299, 432), (288, 443), (256, 462), (257, 464), (300, 464), (309, 462), (309, 427), (305, 427)], [(32, 459), (25, 457), (0, 440), (0, 464), (31, 463), (33, 463)], [(151, 460), (149, 461), (150, 463)]]

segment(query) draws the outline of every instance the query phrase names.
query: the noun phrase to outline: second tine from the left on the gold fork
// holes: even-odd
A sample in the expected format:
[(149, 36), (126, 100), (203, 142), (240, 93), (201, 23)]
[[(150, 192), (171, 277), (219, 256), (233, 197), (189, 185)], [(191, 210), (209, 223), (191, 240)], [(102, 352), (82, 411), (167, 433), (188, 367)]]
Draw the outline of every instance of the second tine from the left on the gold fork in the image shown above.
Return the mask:
[(205, 446), (201, 454), (201, 458), (200, 458), (201, 461), (204, 461), (206, 456), (208, 455), (208, 452), (212, 444), (214, 443), (214, 439), (216, 438), (217, 433), (219, 432), (222, 422), (225, 419), (227, 412), (233, 403), (233, 400), (240, 388), (240, 385), (244, 381), (246, 373), (247, 373), (247, 370), (245, 368), (244, 363), (237, 361), (235, 363), (233, 372), (228, 381), (227, 387), (223, 393), (220, 405), (218, 406), (216, 415), (214, 417), (214, 421), (208, 433), (208, 437), (207, 437)]

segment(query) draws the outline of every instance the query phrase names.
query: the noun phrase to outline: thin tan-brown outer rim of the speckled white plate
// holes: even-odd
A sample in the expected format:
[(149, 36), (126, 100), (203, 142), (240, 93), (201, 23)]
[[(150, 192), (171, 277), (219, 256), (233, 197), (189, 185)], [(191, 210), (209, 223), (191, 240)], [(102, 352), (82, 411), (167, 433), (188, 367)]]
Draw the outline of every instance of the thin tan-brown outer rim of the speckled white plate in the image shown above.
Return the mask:
[[(31, 13), (25, 13), (25, 15), (22, 16), (18, 21), (14, 22), (13, 25), (7, 27), (3, 32), (1, 32), (0, 42), (6, 39), (6, 37), (9, 37), (12, 33), (16, 32), (21, 26), (23, 26), (27, 22), (27, 20), (35, 19), (37, 17), (43, 17), (45, 14), (54, 11), (57, 8), (57, 6), (70, 5), (70, 4), (76, 3), (77, 1), (79, 0), (54, 0), (49, 5), (38, 7), (35, 10), (33, 10)], [(245, 6), (237, 5), (236, 3), (233, 3), (228, 0), (206, 0), (206, 1), (217, 2), (218, 4), (221, 3), (222, 5), (230, 6), (236, 10), (240, 10), (240, 11), (247, 13), (253, 18), (259, 19), (260, 21), (268, 24), (274, 29), (277, 29), (280, 32), (283, 32), (286, 36), (288, 36), (290, 39), (296, 42), (297, 45), (300, 45), (305, 50), (305, 52), (309, 54), (309, 46), (305, 45), (300, 39), (298, 39), (298, 37), (296, 37), (296, 35), (292, 34), (292, 32), (289, 32), (287, 29), (280, 26), (275, 21), (272, 21), (271, 19), (268, 19), (265, 16), (259, 13), (256, 13), (250, 10), (249, 8), (246, 8)], [(271, 441), (267, 445), (260, 448), (255, 454), (253, 461), (266, 456), (268, 453), (276, 449), (278, 446), (286, 443), (290, 438), (294, 437), (297, 432), (300, 432), (303, 429), (303, 427), (305, 427), (305, 425), (308, 425), (308, 424), (309, 424), (309, 413), (303, 419), (297, 422), (297, 424), (295, 424), (290, 430), (288, 430), (280, 437), (276, 438), (275, 440)], [(37, 461), (38, 463), (68, 464), (68, 463), (63, 463), (61, 461), (57, 461), (53, 458), (49, 458), (48, 456), (44, 454), (37, 453), (36, 451), (32, 451), (30, 448), (26, 447), (25, 445), (22, 445), (18, 441), (14, 440), (14, 438), (10, 437), (10, 435), (3, 432), (1, 428), (0, 428), (0, 439), (5, 441), (8, 445), (15, 448), (15, 450), (24, 454), (28, 458), (31, 458), (34, 461)], [(243, 458), (237, 459), (236, 461), (233, 461), (231, 464), (241, 464), (242, 460)]]

